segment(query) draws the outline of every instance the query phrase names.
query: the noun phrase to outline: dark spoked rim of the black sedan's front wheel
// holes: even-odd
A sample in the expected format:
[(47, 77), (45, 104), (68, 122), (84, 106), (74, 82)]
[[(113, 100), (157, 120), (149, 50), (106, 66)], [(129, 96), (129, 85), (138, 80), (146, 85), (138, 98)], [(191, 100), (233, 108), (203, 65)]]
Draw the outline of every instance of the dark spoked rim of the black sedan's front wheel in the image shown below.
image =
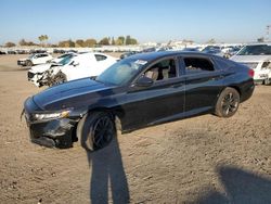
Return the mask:
[(107, 116), (98, 118), (92, 129), (94, 148), (104, 148), (112, 140), (113, 135), (114, 126), (111, 118)]

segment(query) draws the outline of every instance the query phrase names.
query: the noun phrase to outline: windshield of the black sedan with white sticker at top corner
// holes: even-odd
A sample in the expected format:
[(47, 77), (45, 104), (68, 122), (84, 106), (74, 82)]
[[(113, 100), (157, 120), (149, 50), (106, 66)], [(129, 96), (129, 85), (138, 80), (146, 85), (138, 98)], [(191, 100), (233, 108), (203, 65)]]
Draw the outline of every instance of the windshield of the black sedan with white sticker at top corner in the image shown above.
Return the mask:
[(96, 77), (96, 80), (111, 85), (125, 85), (131, 80), (132, 77), (138, 74), (141, 67), (146, 63), (146, 61), (134, 59), (121, 60), (104, 71)]

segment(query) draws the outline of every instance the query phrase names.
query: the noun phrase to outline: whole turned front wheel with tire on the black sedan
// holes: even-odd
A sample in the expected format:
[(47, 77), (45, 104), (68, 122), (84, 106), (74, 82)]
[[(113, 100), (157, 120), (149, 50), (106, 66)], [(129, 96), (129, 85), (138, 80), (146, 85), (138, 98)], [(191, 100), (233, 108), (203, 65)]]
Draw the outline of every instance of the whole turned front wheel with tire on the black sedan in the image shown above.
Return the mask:
[(87, 151), (105, 148), (116, 137), (113, 118), (105, 112), (86, 114), (77, 125), (76, 135), (79, 144)]

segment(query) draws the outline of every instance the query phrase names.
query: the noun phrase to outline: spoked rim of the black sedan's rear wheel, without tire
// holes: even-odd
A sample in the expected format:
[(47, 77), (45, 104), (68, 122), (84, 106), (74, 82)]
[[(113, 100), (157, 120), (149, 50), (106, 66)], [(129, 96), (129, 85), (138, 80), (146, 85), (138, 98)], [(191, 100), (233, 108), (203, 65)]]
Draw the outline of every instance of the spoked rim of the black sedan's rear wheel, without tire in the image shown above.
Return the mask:
[(238, 107), (238, 99), (232, 92), (228, 93), (222, 100), (222, 111), (224, 115), (231, 115)]

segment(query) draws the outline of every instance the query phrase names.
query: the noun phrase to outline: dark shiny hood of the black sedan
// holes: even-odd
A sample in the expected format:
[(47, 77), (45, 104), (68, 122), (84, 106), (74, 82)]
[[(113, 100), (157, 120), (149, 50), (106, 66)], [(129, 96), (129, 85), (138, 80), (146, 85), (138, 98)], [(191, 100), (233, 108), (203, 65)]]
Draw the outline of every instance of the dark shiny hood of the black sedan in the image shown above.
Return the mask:
[(60, 111), (91, 104), (102, 95), (111, 94), (112, 88), (113, 86), (83, 78), (48, 88), (33, 99), (44, 111)]

